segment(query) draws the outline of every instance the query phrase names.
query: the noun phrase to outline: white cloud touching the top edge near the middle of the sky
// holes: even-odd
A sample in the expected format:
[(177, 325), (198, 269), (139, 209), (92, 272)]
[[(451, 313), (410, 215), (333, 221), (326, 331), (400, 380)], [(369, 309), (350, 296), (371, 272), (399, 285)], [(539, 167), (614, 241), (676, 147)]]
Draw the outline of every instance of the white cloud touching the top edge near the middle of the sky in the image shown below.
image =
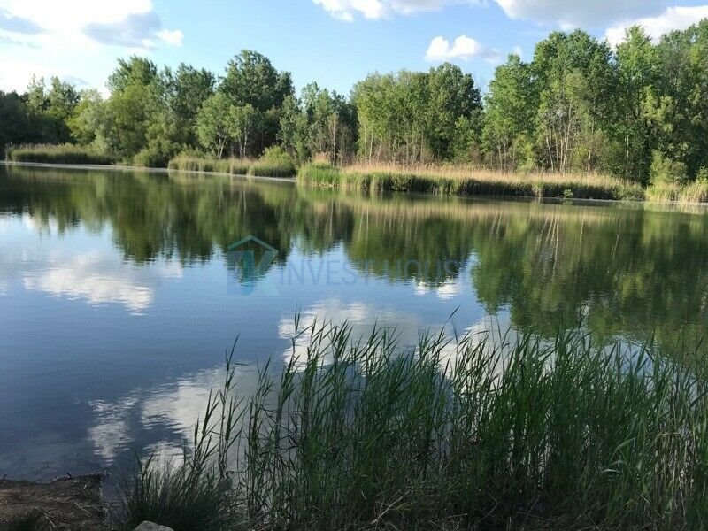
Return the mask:
[(335, 19), (351, 22), (355, 15), (382, 19), (396, 14), (431, 12), (451, 4), (481, 4), (481, 0), (312, 0)]

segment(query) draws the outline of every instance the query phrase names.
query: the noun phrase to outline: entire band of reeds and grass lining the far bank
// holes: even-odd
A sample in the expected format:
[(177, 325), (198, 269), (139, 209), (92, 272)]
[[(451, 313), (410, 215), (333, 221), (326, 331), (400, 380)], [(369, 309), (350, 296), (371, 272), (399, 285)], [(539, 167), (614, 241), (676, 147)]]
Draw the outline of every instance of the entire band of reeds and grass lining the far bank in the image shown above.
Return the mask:
[[(116, 162), (103, 154), (70, 144), (12, 148), (7, 150), (6, 158), (16, 163), (67, 165), (109, 165)], [(277, 147), (266, 150), (263, 157), (258, 159), (212, 158), (184, 154), (171, 159), (167, 167), (171, 170), (196, 173), (296, 177), (299, 183), (311, 187), (418, 192), (443, 196), (708, 202), (708, 181), (661, 181), (644, 188), (636, 182), (603, 174), (502, 173), (454, 164), (354, 164), (335, 167), (326, 163), (310, 163), (297, 168), (292, 158)]]

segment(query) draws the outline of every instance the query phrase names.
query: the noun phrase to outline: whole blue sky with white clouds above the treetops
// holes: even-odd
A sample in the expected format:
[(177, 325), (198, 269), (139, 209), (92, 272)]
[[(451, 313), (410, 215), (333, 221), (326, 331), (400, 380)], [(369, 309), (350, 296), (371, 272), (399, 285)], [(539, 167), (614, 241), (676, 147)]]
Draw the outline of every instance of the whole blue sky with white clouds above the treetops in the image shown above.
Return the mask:
[(296, 87), (349, 94), (367, 73), (443, 61), (484, 87), (510, 53), (533, 57), (552, 30), (621, 42), (640, 24), (658, 39), (708, 17), (708, 0), (0, 0), (0, 90), (32, 74), (105, 92), (116, 60), (185, 62), (221, 74), (257, 50)]

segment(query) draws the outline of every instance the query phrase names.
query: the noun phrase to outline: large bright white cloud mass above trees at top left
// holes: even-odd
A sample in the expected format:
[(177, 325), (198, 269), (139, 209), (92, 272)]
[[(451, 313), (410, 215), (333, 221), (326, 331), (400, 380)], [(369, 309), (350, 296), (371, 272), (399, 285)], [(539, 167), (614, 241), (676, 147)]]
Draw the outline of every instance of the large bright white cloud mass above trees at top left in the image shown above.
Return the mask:
[(0, 90), (24, 90), (32, 73), (102, 87), (117, 58), (181, 40), (151, 0), (0, 0)]

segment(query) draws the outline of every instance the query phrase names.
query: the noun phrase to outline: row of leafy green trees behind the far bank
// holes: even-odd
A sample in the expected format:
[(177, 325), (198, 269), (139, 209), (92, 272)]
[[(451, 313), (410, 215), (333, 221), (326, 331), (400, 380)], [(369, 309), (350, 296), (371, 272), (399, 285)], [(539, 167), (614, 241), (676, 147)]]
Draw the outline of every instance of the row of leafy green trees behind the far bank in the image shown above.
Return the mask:
[(136, 165), (178, 153), (257, 158), (278, 145), (399, 164), (458, 162), (504, 172), (611, 173), (643, 184), (708, 181), (708, 19), (653, 42), (641, 27), (616, 48), (553, 32), (530, 62), (510, 55), (482, 96), (449, 63), (373, 73), (349, 96), (306, 85), (243, 50), (217, 76), (120, 59), (110, 96), (52, 78), (0, 92), (0, 146), (71, 142)]

